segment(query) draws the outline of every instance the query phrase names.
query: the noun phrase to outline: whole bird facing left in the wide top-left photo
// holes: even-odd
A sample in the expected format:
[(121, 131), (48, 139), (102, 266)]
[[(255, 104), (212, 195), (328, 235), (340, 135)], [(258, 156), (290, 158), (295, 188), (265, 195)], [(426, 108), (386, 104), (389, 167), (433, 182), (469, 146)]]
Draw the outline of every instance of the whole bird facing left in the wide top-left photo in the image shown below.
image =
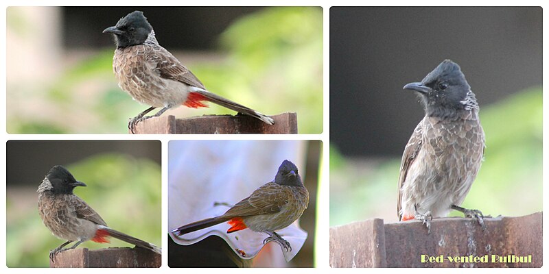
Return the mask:
[[(117, 49), (113, 57), (113, 70), (119, 87), (135, 101), (151, 107), (130, 119), (128, 128), (134, 133), (137, 123), (157, 117), (170, 108), (185, 105), (204, 108), (206, 101), (222, 105), (238, 113), (253, 116), (273, 125), (274, 120), (240, 103), (235, 103), (207, 90), (200, 80), (156, 40), (154, 29), (141, 11), (130, 12), (104, 34), (112, 34)], [(155, 108), (162, 108), (145, 116)]]

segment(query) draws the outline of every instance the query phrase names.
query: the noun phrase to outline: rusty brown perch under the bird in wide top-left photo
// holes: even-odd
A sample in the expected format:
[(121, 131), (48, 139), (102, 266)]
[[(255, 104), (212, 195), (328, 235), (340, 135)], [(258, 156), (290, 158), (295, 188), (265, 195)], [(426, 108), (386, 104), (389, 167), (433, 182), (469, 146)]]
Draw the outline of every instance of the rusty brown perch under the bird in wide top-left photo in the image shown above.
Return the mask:
[[(185, 119), (160, 116), (147, 119), (135, 127), (136, 134), (296, 134), (297, 114), (286, 112), (270, 116), (267, 125), (247, 115), (205, 115)], [(131, 132), (130, 132), (131, 133)]]

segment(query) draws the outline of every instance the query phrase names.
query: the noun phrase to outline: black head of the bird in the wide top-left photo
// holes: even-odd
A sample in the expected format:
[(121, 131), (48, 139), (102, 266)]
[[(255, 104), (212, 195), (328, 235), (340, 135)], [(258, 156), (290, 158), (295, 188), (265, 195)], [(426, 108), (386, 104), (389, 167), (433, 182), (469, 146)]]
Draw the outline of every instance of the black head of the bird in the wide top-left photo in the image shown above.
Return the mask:
[(103, 31), (104, 34), (115, 36), (116, 45), (119, 48), (143, 44), (150, 32), (152, 32), (152, 26), (143, 12), (138, 10), (121, 18), (114, 27), (107, 27)]

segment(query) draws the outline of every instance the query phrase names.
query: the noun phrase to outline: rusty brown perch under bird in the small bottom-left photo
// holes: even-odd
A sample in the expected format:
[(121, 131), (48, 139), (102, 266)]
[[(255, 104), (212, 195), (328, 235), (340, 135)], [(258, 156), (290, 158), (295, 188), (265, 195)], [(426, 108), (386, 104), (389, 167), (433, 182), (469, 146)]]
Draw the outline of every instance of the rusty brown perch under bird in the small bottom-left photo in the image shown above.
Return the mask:
[(49, 267), (160, 267), (161, 256), (142, 248), (71, 249), (49, 260)]

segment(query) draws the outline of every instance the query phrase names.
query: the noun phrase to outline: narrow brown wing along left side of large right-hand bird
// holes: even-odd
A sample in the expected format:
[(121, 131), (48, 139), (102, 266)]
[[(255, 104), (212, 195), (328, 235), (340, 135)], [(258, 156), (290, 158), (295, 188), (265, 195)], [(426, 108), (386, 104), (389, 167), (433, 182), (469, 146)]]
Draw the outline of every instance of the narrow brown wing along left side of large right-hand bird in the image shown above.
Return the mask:
[(401, 188), (404, 184), (404, 181), (406, 181), (406, 175), (408, 175), (408, 169), (410, 169), (410, 166), (414, 162), (417, 153), (421, 149), (421, 136), (423, 135), (423, 121), (419, 122), (416, 129), (414, 129), (414, 133), (412, 133), (412, 136), (410, 137), (410, 140), (408, 140), (408, 144), (406, 144), (406, 147), (404, 148), (404, 154), (402, 155), (402, 162), (400, 164), (400, 175), (399, 175), (399, 187), (398, 187), (398, 199), (397, 199), (397, 214), (399, 216), (399, 221), (402, 219), (402, 215), (400, 214), (400, 203), (401, 203)]

